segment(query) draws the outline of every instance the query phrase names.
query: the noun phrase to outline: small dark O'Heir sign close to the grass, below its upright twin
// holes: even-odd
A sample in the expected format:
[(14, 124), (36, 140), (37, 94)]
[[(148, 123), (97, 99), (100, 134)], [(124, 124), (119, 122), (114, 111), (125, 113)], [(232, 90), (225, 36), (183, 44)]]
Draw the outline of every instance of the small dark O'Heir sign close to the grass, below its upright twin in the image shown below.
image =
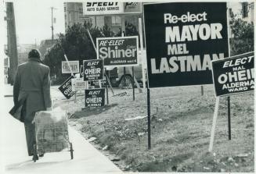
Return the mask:
[(85, 107), (100, 107), (105, 105), (105, 89), (85, 90)]

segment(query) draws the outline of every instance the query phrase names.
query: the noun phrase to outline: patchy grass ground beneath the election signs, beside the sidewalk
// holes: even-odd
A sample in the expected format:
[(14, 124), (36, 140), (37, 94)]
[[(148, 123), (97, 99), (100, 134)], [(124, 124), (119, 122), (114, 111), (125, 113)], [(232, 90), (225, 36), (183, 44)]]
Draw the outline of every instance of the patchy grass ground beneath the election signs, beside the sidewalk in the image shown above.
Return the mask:
[[(117, 90), (110, 105), (83, 109), (82, 100), (60, 103), (71, 108), (70, 122), (124, 171), (254, 172), (254, 95), (231, 96), (232, 140), (228, 140), (227, 101), (220, 99), (214, 150), (208, 153), (215, 108), (212, 85), (151, 90), (151, 149), (147, 149), (146, 91)], [(109, 94), (111, 96), (111, 94)], [(59, 101), (62, 102), (62, 101)], [(79, 110), (80, 107), (80, 110)], [(132, 119), (140, 118), (140, 119)], [(126, 119), (129, 119), (128, 121)], [(103, 150), (104, 149), (104, 150)], [(247, 154), (244, 157), (240, 154)], [(113, 160), (114, 159), (114, 160)], [(232, 160), (233, 159), (233, 160)], [(118, 164), (118, 162), (120, 164)]]

